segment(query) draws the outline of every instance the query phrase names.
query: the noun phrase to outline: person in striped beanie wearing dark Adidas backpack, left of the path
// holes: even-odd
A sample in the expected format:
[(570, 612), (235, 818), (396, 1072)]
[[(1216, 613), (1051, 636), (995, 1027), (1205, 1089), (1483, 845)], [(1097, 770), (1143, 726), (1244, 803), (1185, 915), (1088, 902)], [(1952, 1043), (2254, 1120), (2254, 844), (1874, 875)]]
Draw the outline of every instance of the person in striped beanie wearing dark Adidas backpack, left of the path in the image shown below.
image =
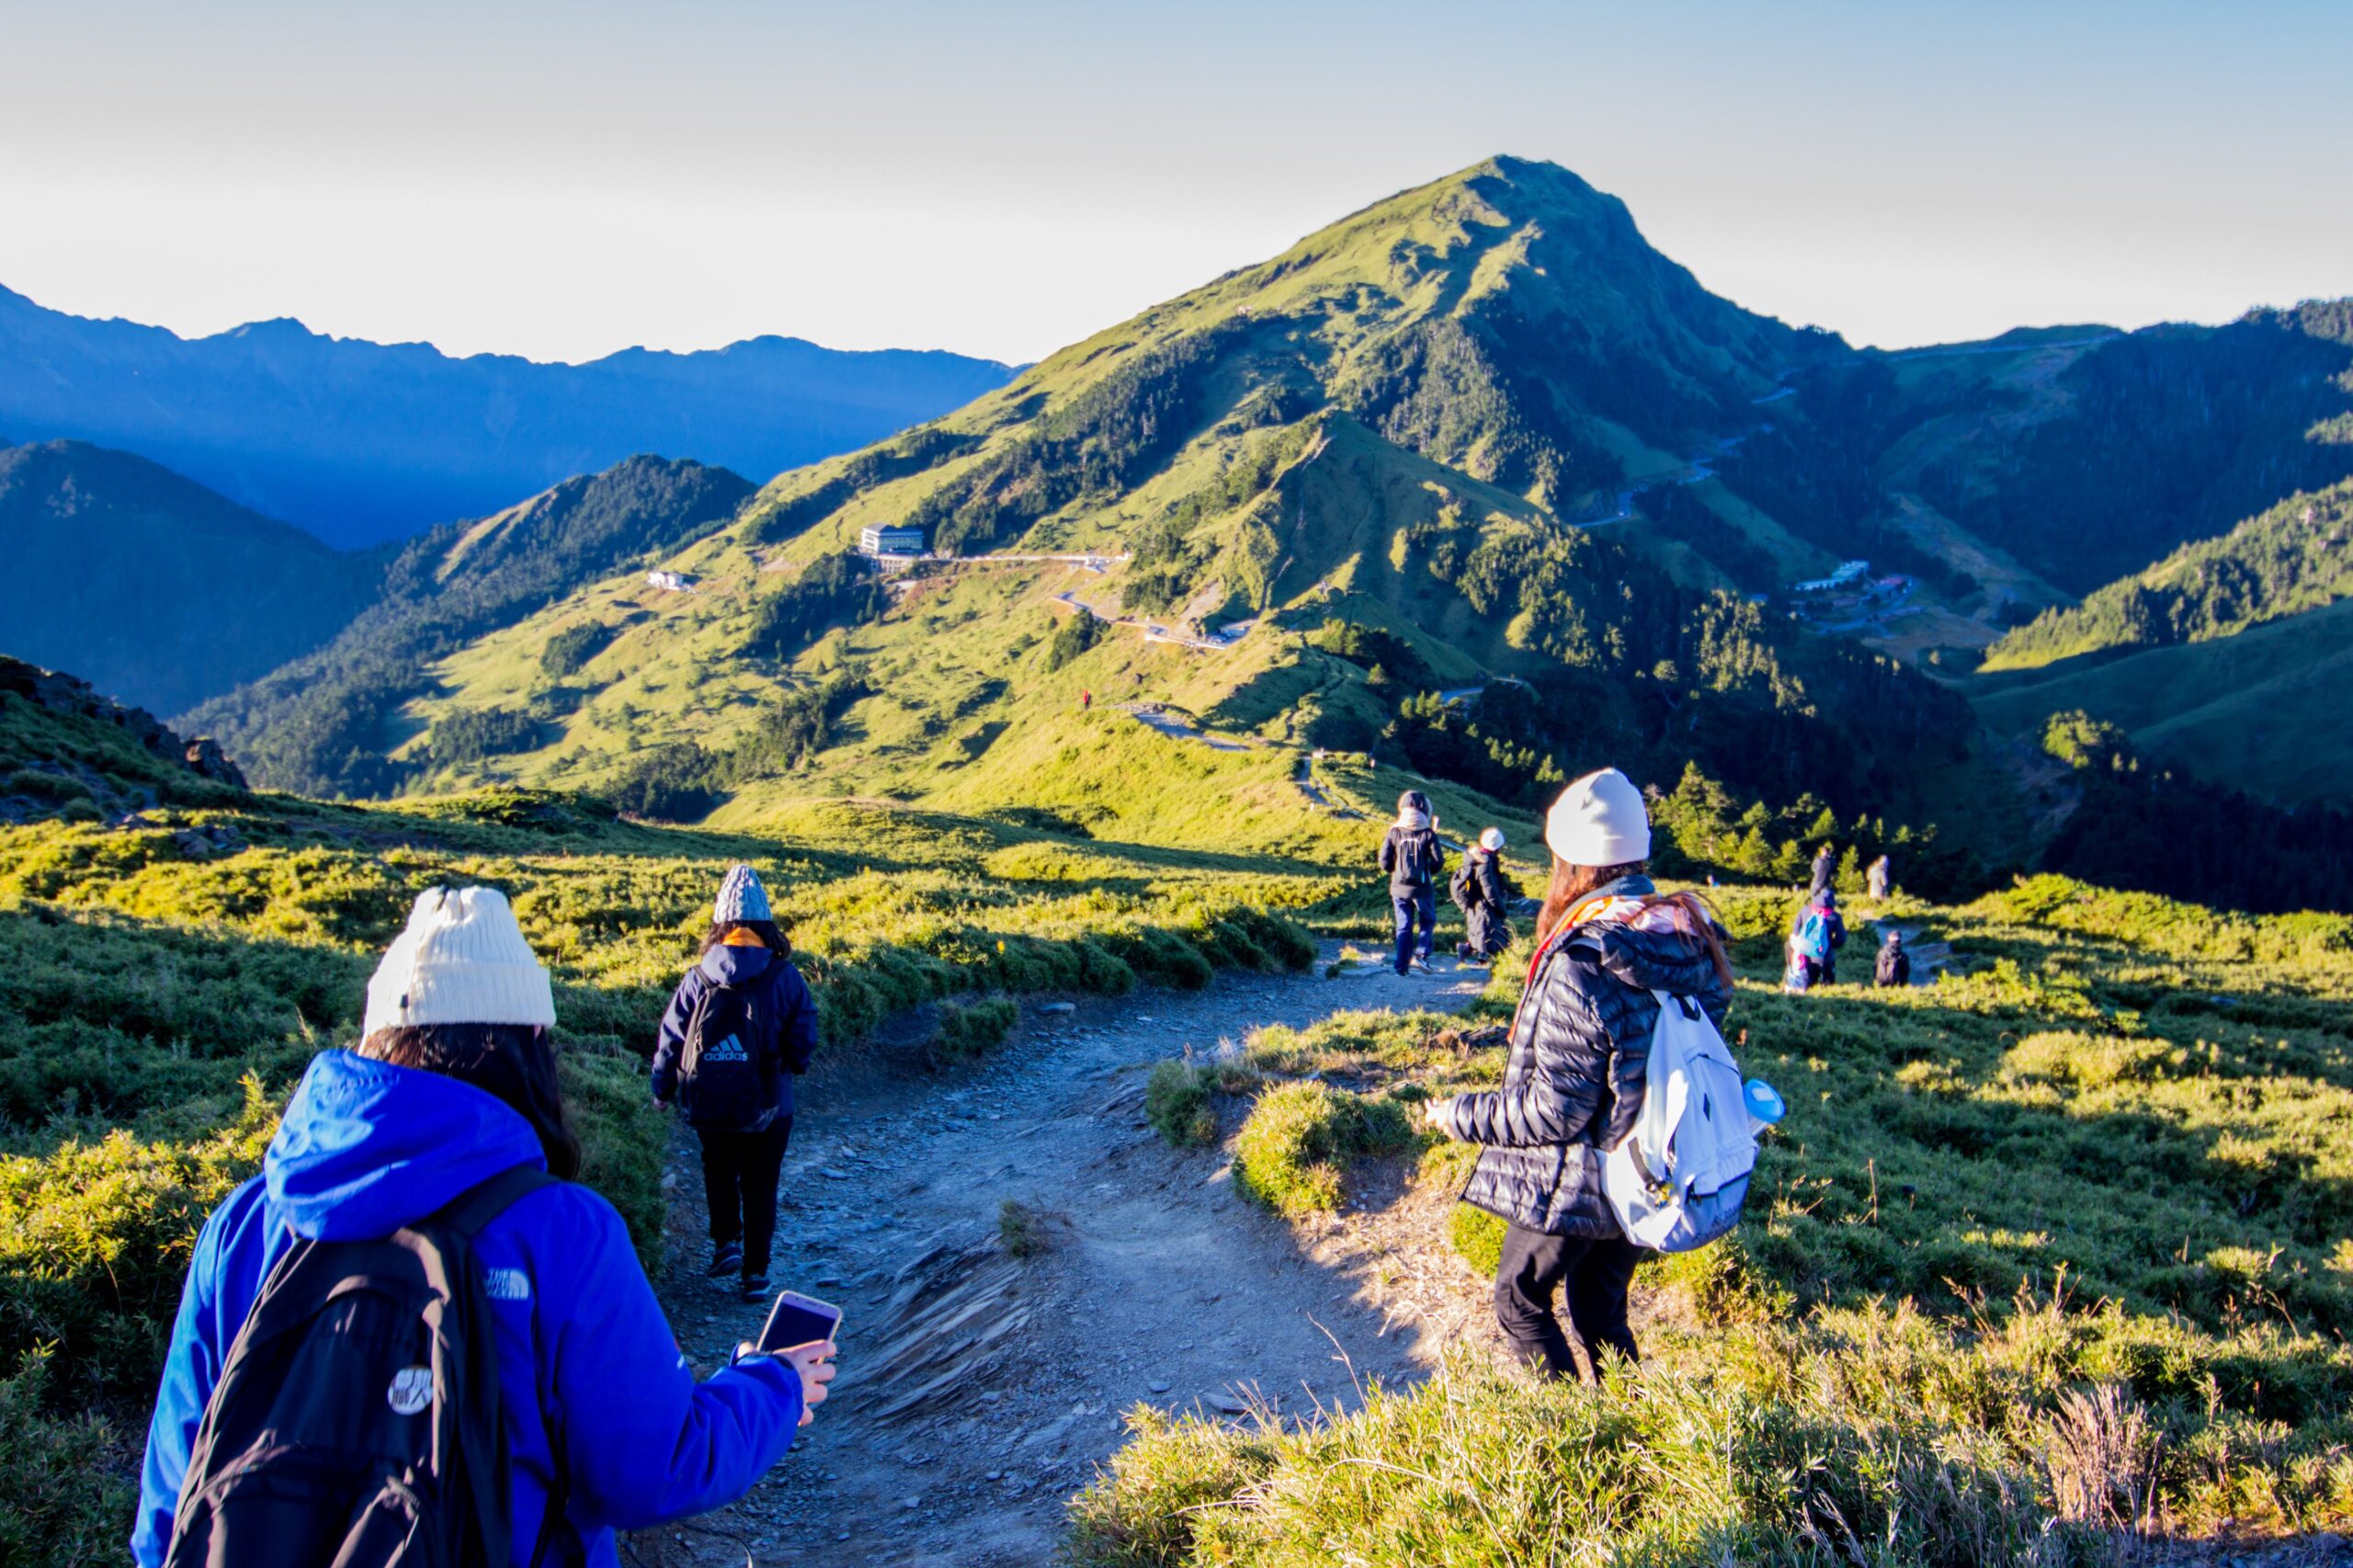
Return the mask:
[(816, 1050), (816, 998), (793, 968), (767, 888), (729, 866), (701, 956), (678, 982), (654, 1045), (654, 1104), (673, 1099), (704, 1147), (711, 1278), (767, 1295), (776, 1180), (793, 1137), (793, 1076)]

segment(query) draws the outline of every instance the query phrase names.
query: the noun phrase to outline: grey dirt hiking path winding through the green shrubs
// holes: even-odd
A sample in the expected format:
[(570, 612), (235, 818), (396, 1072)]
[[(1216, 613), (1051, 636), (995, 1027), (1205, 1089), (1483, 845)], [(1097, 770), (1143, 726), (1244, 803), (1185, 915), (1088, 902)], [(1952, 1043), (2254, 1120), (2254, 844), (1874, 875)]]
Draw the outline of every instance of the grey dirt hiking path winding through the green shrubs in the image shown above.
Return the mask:
[[(1449, 961), (1405, 979), (1325, 979), (1318, 965), (1221, 975), (1195, 996), (1031, 1003), (974, 1067), (821, 1083), (793, 1128), (774, 1278), (845, 1307), (835, 1401), (751, 1497), (635, 1537), (638, 1561), (1045, 1563), (1064, 1500), (1118, 1448), (1134, 1403), (1238, 1413), (1257, 1391), (1289, 1413), (1355, 1403), (1353, 1377), (1417, 1377), (1475, 1316), (1417, 1307), (1459, 1281), (1417, 1278), (1402, 1255), (1421, 1248), (1400, 1227), (1442, 1215), (1372, 1196), (1299, 1236), (1217, 1156), (1160, 1142), (1144, 1069), (1344, 1008), (1452, 1010), (1480, 984), (1485, 970)], [(671, 1170), (659, 1285), (711, 1368), (760, 1309), (701, 1278), (692, 1140), (673, 1144)], [(1007, 1198), (1038, 1215), (1031, 1257), (1000, 1241)]]

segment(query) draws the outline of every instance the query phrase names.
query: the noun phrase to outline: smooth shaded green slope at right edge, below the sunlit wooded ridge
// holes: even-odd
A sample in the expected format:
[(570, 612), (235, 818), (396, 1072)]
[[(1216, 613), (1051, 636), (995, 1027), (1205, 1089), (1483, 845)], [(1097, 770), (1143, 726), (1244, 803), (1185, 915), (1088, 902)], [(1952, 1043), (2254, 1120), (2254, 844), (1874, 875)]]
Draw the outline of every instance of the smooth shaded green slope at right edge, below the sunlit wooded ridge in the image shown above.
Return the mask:
[(2002, 735), (2080, 709), (2151, 758), (2282, 803), (2353, 803), (2344, 723), (2353, 605), (2306, 610), (2209, 643), (2080, 657), (1986, 678), (1972, 704)]

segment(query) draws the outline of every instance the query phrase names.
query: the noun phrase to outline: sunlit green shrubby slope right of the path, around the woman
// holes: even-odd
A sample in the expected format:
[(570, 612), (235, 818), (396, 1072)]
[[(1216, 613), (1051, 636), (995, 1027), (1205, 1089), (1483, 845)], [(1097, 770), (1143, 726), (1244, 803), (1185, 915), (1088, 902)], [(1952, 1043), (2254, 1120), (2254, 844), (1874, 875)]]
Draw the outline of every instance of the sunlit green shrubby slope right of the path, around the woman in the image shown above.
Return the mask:
[[(2327, 1552), (2353, 1523), (2346, 918), (2038, 878), (1894, 911), (1951, 942), (1937, 984), (1791, 998), (1784, 895), (1720, 897), (1741, 1062), (1791, 1114), (1732, 1238), (1642, 1264), (1642, 1366), (1537, 1387), (1459, 1354), (1348, 1415), (1136, 1408), (1071, 1507), (1078, 1563), (2094, 1566), (2214, 1535)], [(1504, 1019), (1515, 970), (1497, 975), (1480, 1010)], [(1409, 1109), (1501, 1069), (1452, 1024), (1365, 1012), (1249, 1041), (1198, 1085), (1247, 1107), (1235, 1180), (1306, 1217), (1304, 1238), (1344, 1203), (1442, 1205), (1473, 1151), (1412, 1132)], [(1384, 1161), (1402, 1194), (1367, 1180)], [(1485, 1311), (1492, 1222), (1452, 1224), (1480, 1264), (1431, 1227), (1391, 1234), (1388, 1269)]]

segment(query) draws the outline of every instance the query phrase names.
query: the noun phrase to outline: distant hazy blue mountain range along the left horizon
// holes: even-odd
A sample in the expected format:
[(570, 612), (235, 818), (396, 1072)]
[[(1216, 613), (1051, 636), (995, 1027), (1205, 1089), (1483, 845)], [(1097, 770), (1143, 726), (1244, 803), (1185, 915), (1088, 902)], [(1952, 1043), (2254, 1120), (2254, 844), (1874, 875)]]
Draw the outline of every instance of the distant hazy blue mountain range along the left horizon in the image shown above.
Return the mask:
[(508, 506), (633, 452), (767, 478), (1005, 384), (958, 353), (755, 337), (586, 365), (322, 337), (216, 337), (49, 311), (0, 287), (0, 431), (148, 457), (336, 546)]

